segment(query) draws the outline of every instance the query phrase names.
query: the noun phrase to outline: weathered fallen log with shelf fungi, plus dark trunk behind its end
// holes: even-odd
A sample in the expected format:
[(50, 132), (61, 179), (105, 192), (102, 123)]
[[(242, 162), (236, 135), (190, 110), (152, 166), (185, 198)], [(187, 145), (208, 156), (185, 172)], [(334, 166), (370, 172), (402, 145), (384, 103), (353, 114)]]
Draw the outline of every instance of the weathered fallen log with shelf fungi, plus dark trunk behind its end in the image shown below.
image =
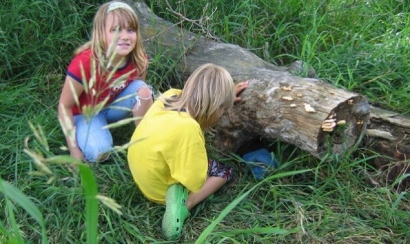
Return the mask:
[[(214, 145), (220, 149), (235, 151), (263, 137), (296, 145), (321, 158), (327, 152), (343, 153), (365, 135), (361, 145), (395, 160), (408, 159), (408, 117), (370, 107), (364, 96), (313, 78), (312, 70), (308, 75), (312, 78), (293, 75), (303, 69), (301, 62), (277, 66), (239, 46), (177, 28), (153, 14), (141, 0), (135, 9), (148, 56), (161, 54), (176, 60), (175, 69), (184, 80), (208, 62), (226, 68), (235, 82), (250, 80), (242, 101), (216, 127)], [(315, 112), (309, 112), (309, 106)], [(327, 125), (336, 125), (324, 131), (322, 125), (329, 120)]]

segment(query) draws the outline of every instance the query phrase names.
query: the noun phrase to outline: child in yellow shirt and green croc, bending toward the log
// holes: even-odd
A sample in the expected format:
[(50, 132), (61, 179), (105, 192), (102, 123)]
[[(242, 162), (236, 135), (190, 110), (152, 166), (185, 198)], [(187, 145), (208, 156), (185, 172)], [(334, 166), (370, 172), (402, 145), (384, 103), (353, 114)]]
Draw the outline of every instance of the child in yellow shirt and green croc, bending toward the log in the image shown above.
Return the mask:
[(208, 159), (203, 131), (240, 100), (236, 94), (247, 86), (235, 86), (224, 68), (203, 64), (182, 91), (162, 94), (135, 129), (129, 167), (141, 192), (166, 205), (162, 230), (168, 239), (179, 238), (189, 210), (232, 178), (232, 168)]

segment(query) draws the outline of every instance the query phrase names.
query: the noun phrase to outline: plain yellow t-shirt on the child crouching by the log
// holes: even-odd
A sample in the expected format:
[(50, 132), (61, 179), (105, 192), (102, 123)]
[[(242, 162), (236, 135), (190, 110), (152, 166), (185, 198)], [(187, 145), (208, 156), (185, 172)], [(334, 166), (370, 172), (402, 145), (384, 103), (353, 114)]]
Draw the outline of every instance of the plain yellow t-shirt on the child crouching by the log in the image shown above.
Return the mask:
[[(162, 97), (181, 91), (171, 89)], [(186, 112), (164, 109), (157, 99), (131, 137), (128, 164), (141, 192), (165, 204), (168, 187), (181, 183), (197, 192), (207, 179), (208, 157), (202, 130)]]

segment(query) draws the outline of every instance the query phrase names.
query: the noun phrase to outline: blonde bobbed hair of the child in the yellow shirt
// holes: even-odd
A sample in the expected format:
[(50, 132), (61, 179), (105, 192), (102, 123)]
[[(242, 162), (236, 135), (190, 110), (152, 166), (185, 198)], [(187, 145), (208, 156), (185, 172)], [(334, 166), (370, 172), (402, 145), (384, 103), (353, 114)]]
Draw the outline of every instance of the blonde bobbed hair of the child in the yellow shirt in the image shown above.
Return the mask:
[(178, 97), (163, 102), (168, 110), (181, 111), (187, 107), (201, 129), (207, 130), (218, 121), (218, 109), (230, 108), (235, 96), (235, 85), (229, 72), (207, 63), (191, 74)]

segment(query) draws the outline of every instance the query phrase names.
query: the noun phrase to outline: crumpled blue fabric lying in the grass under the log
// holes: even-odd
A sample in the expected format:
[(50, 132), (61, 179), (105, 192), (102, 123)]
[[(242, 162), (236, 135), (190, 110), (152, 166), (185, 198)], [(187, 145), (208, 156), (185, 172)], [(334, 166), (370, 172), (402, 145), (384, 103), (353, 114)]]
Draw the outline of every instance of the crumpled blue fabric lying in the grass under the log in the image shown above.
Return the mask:
[(264, 178), (269, 169), (278, 167), (278, 162), (267, 149), (251, 151), (243, 155), (243, 160), (251, 168), (251, 172), (258, 180)]

